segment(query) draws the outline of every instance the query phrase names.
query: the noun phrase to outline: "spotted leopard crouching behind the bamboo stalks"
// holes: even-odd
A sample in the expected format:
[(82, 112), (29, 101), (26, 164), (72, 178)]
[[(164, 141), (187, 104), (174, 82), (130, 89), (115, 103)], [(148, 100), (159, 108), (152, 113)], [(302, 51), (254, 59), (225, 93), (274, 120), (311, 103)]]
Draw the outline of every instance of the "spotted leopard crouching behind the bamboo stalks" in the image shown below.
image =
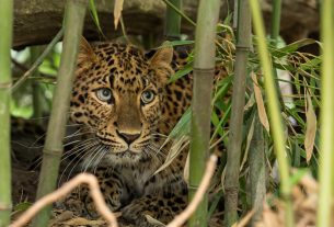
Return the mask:
[[(82, 38), (70, 102), (88, 147), (80, 157), (99, 180), (120, 222), (151, 227), (147, 215), (166, 224), (187, 204), (183, 170), (187, 149), (162, 171), (170, 146), (162, 146), (192, 102), (192, 75), (170, 82), (187, 64), (188, 48), (162, 46), (145, 53), (122, 43)], [(85, 186), (64, 201), (79, 216), (99, 216)]]

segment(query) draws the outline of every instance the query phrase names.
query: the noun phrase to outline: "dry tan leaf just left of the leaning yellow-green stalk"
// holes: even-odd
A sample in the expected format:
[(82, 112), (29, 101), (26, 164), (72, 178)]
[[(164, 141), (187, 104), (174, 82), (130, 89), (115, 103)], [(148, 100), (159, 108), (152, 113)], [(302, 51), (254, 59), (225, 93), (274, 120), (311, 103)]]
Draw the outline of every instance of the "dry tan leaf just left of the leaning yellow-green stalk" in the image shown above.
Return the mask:
[(266, 110), (264, 107), (263, 97), (262, 97), (261, 89), (258, 87), (255, 73), (252, 73), (252, 79), (253, 79), (253, 87), (254, 87), (254, 93), (255, 93), (255, 100), (256, 100), (256, 104), (257, 104), (260, 122), (264, 126), (264, 128), (266, 128), (266, 130), (269, 133), (269, 130), (270, 130), (269, 121), (267, 117)]

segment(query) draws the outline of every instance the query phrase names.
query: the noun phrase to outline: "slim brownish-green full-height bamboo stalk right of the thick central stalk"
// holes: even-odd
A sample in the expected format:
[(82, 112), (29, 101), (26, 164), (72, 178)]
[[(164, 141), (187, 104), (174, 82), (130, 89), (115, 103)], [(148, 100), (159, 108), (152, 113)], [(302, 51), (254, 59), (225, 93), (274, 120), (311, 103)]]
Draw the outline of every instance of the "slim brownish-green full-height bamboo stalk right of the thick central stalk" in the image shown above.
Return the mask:
[(239, 1), (238, 41), (235, 69), (232, 93), (232, 112), (230, 123), (230, 141), (227, 154), (227, 172), (224, 179), (224, 220), (232, 226), (238, 220), (239, 169), (242, 144), (243, 107), (245, 100), (245, 81), (247, 57), (251, 48), (251, 13), (249, 1)]

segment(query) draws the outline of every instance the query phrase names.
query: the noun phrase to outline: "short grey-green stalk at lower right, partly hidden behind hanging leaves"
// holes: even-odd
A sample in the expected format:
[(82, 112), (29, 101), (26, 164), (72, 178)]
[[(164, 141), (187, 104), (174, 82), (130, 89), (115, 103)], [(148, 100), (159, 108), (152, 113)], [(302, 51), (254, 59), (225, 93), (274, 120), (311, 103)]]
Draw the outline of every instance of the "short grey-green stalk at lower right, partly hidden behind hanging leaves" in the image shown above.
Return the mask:
[(252, 226), (262, 218), (263, 202), (266, 193), (265, 179), (265, 145), (263, 138), (263, 126), (258, 118), (257, 110), (254, 116), (254, 134), (250, 145), (250, 180), (251, 201), (255, 214), (252, 217)]

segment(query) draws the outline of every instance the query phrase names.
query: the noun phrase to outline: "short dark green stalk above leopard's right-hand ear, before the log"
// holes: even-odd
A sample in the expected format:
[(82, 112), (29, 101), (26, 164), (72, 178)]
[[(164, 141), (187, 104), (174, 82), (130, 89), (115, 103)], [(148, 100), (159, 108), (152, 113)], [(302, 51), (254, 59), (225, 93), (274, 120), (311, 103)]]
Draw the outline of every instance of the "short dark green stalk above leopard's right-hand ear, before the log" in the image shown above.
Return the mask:
[[(181, 10), (182, 0), (170, 0), (176, 9)], [(181, 15), (170, 5), (165, 11), (164, 36), (168, 41), (178, 41), (181, 35)]]

